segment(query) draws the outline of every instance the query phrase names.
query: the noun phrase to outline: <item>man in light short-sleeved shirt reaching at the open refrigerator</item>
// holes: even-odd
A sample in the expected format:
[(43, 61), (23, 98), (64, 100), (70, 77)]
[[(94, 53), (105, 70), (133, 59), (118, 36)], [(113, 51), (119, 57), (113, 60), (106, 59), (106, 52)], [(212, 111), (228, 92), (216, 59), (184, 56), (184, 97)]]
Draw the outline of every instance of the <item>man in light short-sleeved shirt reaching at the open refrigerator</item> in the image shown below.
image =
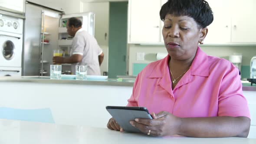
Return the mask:
[(87, 65), (87, 75), (101, 75), (100, 65), (104, 53), (96, 39), (82, 28), (82, 22), (78, 18), (70, 18), (66, 28), (68, 34), (74, 37), (69, 52), (70, 57), (54, 56), (53, 64), (71, 63), (72, 74), (75, 74), (75, 65)]

